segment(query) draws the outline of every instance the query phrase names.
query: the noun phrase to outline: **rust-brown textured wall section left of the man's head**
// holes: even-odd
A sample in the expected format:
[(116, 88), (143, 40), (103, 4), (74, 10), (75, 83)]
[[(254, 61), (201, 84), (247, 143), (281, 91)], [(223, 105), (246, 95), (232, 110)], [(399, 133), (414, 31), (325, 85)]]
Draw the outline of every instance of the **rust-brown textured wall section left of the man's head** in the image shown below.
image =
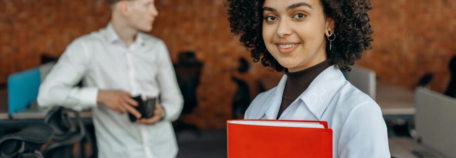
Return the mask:
[(74, 38), (109, 19), (103, 0), (2, 0), (0, 11), (0, 83), (39, 65), (42, 54), (58, 57)]

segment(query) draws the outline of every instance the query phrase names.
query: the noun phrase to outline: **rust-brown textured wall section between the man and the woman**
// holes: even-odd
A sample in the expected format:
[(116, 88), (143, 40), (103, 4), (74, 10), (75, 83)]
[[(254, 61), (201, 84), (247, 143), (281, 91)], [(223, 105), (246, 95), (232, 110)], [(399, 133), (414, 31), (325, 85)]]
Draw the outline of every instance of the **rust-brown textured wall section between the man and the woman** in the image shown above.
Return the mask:
[[(179, 51), (193, 50), (204, 63), (197, 89), (199, 105), (185, 119), (205, 128), (224, 128), (225, 121), (231, 118), (236, 90), (231, 75), (235, 74), (238, 58), (249, 58), (249, 54), (230, 33), (223, 2), (159, 0), (157, 7), (159, 17), (151, 34), (167, 43), (173, 59), (177, 59)], [(254, 67), (250, 73), (239, 77), (246, 78), (256, 89), (256, 78), (271, 73), (258, 64), (251, 65)]]

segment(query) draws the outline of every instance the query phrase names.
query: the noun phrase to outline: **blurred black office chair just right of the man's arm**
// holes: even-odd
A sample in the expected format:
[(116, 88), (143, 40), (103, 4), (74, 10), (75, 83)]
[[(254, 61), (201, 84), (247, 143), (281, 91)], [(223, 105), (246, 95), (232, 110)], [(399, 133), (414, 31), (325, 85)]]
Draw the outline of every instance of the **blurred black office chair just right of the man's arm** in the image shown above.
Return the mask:
[(183, 96), (183, 108), (179, 118), (173, 122), (176, 135), (182, 130), (194, 131), (201, 135), (197, 126), (183, 122), (182, 116), (190, 114), (198, 106), (196, 89), (200, 83), (200, 74), (203, 64), (197, 61), (194, 52), (184, 51), (179, 54), (179, 62), (174, 65), (177, 83)]

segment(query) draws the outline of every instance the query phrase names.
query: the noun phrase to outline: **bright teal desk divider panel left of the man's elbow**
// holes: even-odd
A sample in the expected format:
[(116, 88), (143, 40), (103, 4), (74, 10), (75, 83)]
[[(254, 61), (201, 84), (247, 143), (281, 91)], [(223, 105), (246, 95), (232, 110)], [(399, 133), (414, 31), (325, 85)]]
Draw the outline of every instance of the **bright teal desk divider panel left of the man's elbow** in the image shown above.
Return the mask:
[(8, 113), (20, 112), (36, 101), (40, 83), (54, 63), (47, 63), (33, 69), (18, 72), (8, 77)]

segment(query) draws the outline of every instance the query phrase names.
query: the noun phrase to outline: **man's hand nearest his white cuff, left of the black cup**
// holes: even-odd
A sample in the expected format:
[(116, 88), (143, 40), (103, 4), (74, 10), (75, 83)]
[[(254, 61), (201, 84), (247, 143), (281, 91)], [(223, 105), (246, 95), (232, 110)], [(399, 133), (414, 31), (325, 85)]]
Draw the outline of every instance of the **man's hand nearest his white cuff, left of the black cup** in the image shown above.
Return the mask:
[(141, 118), (141, 113), (133, 108), (138, 107), (138, 102), (131, 98), (131, 95), (125, 91), (99, 90), (97, 101), (119, 114), (130, 113), (138, 119)]

